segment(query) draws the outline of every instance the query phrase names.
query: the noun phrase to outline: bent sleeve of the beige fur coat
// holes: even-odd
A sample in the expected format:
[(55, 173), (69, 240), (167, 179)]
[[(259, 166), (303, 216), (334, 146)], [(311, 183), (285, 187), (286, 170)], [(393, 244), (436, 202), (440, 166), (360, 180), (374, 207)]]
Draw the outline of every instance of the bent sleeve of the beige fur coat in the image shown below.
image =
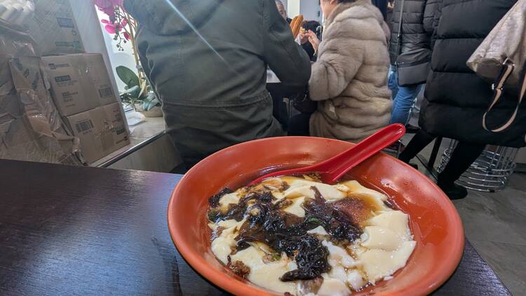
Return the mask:
[[(351, 25), (346, 27), (352, 28)], [(326, 37), (322, 41), (309, 81), (311, 100), (328, 100), (344, 91), (363, 64), (361, 43), (359, 39), (349, 36)]]

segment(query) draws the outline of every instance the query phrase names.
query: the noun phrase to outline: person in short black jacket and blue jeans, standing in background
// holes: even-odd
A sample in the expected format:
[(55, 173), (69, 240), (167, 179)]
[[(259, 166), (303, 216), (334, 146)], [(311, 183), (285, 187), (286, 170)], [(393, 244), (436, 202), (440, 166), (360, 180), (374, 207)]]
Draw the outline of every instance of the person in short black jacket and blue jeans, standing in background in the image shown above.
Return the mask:
[[(391, 123), (407, 125), (411, 110), (422, 84), (399, 86), (396, 72), (396, 60), (400, 53), (408, 53), (417, 48), (431, 51), (431, 34), (433, 33), (433, 15), (437, 2), (440, 0), (396, 0), (391, 15), (391, 41), (389, 43), (389, 88), (393, 92), (393, 113)], [(403, 6), (401, 39), (398, 44), (398, 29), (400, 24), (400, 10)], [(423, 58), (426, 58), (423, 56)], [(414, 62), (425, 62), (414, 61)], [(422, 77), (424, 80), (425, 77)]]

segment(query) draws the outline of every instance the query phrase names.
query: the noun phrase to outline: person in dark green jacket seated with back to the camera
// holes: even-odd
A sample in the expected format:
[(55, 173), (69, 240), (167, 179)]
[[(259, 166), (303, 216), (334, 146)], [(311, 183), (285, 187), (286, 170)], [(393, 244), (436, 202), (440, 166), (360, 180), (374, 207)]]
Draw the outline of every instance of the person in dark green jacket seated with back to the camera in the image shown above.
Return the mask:
[(187, 167), (225, 147), (284, 135), (272, 116), (267, 66), (305, 86), (309, 56), (274, 0), (125, 0), (136, 46)]

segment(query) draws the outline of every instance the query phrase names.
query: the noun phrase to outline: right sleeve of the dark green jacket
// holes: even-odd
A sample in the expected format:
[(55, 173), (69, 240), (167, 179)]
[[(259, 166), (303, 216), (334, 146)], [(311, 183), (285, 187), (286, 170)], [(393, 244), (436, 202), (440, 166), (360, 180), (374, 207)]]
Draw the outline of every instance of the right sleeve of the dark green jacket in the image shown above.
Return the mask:
[(289, 86), (306, 86), (311, 76), (309, 55), (294, 41), (290, 26), (278, 13), (275, 1), (262, 2), (264, 60), (282, 83)]

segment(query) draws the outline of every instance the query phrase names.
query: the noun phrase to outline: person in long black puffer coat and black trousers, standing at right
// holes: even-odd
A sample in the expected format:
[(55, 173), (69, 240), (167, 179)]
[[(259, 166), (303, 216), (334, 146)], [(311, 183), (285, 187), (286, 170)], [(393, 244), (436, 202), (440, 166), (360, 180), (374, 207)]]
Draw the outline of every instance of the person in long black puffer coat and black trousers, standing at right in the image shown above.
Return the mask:
[[(435, 137), (459, 140), (438, 186), (450, 196), (461, 199), (467, 190), (454, 182), (471, 166), (486, 144), (525, 147), (526, 105), (522, 104), (515, 122), (501, 133), (483, 128), (483, 114), (492, 100), (490, 83), (466, 66), (468, 58), (485, 36), (515, 4), (516, 0), (442, 0), (437, 11), (433, 35), (431, 73), (420, 111), (417, 133), (400, 154), (409, 162)], [(516, 94), (505, 94), (488, 119), (497, 127), (513, 114)]]

